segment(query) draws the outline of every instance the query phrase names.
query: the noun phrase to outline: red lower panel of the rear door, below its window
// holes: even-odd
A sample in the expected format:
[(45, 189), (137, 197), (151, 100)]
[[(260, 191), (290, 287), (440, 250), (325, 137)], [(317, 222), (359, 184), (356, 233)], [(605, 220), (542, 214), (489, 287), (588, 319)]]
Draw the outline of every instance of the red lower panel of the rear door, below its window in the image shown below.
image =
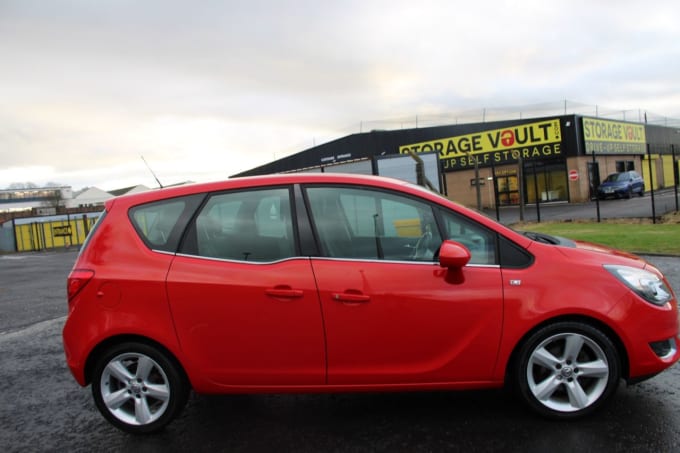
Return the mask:
[(309, 259), (250, 264), (178, 256), (167, 290), (193, 374), (225, 386), (326, 382)]

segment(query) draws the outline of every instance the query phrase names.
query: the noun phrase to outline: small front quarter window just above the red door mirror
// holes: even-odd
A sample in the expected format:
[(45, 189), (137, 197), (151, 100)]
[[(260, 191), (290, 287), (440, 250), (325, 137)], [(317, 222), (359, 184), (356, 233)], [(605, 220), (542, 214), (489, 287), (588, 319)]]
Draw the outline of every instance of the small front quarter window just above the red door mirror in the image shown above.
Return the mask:
[(446, 239), (459, 242), (470, 250), (470, 264), (498, 264), (493, 231), (450, 211), (442, 211), (442, 219)]

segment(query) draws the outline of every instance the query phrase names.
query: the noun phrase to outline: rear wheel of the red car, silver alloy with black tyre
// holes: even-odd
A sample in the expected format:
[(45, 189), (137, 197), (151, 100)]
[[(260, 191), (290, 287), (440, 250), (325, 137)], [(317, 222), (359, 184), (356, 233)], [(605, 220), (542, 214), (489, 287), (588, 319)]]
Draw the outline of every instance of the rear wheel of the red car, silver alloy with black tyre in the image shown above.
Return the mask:
[(97, 409), (135, 434), (161, 430), (184, 408), (187, 379), (176, 361), (145, 343), (122, 343), (99, 357), (92, 376)]

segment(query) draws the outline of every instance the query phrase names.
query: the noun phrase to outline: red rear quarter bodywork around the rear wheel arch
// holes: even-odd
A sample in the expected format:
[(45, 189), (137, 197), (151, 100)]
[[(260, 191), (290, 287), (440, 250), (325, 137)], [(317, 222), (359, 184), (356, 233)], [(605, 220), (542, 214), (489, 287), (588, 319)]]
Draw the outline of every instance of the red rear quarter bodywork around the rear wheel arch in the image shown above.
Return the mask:
[(173, 256), (148, 250), (130, 228), (125, 210), (108, 212), (109, 221), (96, 231), (96, 245), (83, 249), (74, 266), (95, 274), (69, 301), (64, 326), (67, 363), (81, 384), (89, 354), (116, 336), (153, 338), (180, 354), (165, 293)]

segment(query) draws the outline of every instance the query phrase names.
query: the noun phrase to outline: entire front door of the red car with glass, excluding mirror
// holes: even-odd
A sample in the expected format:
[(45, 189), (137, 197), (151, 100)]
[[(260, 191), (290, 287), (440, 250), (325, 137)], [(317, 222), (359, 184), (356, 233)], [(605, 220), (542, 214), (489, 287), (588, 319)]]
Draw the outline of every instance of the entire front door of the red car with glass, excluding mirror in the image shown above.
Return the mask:
[[(503, 300), (493, 233), (446, 213), (440, 232), (430, 205), (383, 191), (310, 187), (307, 197), (325, 255), (312, 266), (329, 384), (491, 378)], [(472, 264), (441, 268), (442, 236), (464, 243)]]

